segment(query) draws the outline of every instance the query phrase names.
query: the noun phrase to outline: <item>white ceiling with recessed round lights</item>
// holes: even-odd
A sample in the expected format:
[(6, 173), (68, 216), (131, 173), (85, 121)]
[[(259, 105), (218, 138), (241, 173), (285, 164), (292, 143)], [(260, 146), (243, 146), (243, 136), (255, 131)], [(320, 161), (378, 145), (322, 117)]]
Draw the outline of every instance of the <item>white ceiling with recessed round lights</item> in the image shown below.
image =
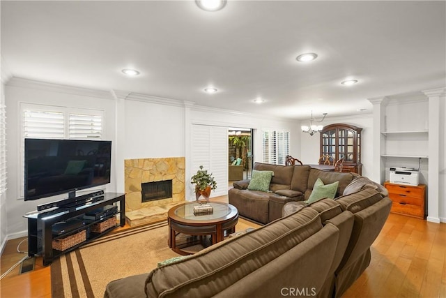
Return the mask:
[[(371, 112), (367, 98), (445, 86), (445, 4), (1, 1), (1, 56), (31, 80), (292, 119), (358, 114)], [(304, 52), (318, 59), (296, 61)]]

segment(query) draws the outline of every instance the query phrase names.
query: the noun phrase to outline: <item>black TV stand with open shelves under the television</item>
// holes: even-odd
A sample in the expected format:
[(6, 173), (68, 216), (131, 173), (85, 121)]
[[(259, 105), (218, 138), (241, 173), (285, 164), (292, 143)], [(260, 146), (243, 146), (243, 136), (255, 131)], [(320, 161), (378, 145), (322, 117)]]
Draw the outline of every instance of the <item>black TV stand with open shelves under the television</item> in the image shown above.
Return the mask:
[[(115, 202), (119, 203), (117, 215), (119, 216), (119, 225), (123, 227), (125, 225), (125, 195), (123, 193), (104, 193), (104, 200), (100, 200), (98, 202), (92, 202), (72, 208), (59, 208), (47, 212), (36, 211), (31, 214), (24, 215), (24, 217), (28, 219), (28, 255), (41, 255), (43, 258), (43, 265), (47, 266), (52, 263), (54, 258), (59, 257), (59, 255), (73, 251), (79, 246), (87, 244), (103, 234), (113, 230), (116, 228), (116, 225), (114, 227), (107, 228), (107, 230), (104, 230), (103, 232), (89, 232), (93, 224), (104, 221), (105, 218), (98, 219), (97, 221), (91, 221), (85, 225), (82, 225), (82, 227), (69, 230), (68, 232), (62, 232), (58, 235), (53, 235), (52, 228), (55, 223), (69, 221), (70, 219), (84, 216), (84, 214), (92, 211), (93, 209), (105, 207), (107, 205), (114, 204)], [(82, 230), (86, 230), (85, 241), (82, 241), (81, 243), (63, 251), (53, 249), (53, 239), (69, 237), (78, 232), (82, 232)]]

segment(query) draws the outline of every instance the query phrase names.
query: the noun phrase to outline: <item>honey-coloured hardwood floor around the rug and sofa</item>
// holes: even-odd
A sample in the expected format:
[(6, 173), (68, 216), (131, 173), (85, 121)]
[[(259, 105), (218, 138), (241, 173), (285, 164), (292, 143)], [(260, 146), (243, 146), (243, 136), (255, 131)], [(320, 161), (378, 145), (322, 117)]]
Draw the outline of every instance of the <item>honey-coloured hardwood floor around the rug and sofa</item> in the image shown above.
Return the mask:
[[(227, 196), (212, 200), (227, 202)], [(22, 239), (6, 244), (1, 274), (24, 257), (16, 250)], [(51, 297), (49, 266), (40, 259), (33, 271), (19, 275), (17, 267), (0, 283), (2, 298)], [(371, 264), (343, 297), (446, 297), (446, 224), (390, 214), (371, 247)]]

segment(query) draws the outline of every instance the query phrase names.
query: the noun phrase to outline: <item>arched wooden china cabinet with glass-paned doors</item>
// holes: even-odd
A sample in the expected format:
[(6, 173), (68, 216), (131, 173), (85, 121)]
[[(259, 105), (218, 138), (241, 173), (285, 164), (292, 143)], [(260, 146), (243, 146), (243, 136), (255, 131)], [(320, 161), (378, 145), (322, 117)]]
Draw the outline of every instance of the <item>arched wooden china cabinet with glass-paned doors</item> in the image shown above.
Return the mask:
[(342, 172), (362, 174), (361, 131), (348, 124), (325, 126), (321, 131), (321, 156), (331, 156), (334, 163), (344, 158)]

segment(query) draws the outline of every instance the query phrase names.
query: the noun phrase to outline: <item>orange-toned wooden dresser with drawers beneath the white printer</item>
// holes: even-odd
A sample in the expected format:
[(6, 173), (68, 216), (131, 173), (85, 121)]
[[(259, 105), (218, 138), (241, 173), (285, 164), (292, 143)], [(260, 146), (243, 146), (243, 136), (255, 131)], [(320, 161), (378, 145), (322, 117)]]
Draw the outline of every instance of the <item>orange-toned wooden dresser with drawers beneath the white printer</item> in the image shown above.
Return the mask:
[(392, 200), (390, 212), (424, 219), (426, 185), (408, 186), (386, 181), (384, 187), (389, 191), (389, 198)]

